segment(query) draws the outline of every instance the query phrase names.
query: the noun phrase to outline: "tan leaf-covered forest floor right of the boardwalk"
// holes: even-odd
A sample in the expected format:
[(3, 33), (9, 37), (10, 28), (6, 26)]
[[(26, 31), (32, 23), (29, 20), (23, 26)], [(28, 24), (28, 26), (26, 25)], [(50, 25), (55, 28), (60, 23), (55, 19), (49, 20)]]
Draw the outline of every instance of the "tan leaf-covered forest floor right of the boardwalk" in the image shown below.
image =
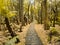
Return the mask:
[[(60, 26), (56, 25), (55, 28), (56, 28), (57, 32), (60, 33)], [(37, 32), (38, 36), (40, 37), (40, 39), (42, 40), (44, 45), (55, 45), (54, 41), (57, 40), (58, 37), (53, 36), (52, 43), (49, 44), (48, 34), (49, 34), (50, 30), (44, 30), (43, 24), (35, 24), (35, 29), (36, 29), (36, 32)]]

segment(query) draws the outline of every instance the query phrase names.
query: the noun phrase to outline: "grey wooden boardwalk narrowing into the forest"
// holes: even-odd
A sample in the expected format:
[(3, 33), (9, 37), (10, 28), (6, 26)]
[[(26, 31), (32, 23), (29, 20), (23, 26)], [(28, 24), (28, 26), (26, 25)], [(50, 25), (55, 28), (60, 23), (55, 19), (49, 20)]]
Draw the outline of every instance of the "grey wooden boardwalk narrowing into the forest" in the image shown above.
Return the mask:
[(25, 45), (43, 45), (34, 29), (34, 23), (30, 25), (27, 31)]

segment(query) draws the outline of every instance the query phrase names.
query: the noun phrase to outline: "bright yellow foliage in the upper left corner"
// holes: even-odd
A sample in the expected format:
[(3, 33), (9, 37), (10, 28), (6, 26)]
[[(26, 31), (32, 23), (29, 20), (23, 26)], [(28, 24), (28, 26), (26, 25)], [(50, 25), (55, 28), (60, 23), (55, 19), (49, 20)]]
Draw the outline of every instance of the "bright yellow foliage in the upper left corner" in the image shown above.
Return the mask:
[(0, 15), (5, 17), (12, 17), (16, 14), (16, 11), (11, 11), (8, 7), (11, 5), (10, 0), (0, 0)]

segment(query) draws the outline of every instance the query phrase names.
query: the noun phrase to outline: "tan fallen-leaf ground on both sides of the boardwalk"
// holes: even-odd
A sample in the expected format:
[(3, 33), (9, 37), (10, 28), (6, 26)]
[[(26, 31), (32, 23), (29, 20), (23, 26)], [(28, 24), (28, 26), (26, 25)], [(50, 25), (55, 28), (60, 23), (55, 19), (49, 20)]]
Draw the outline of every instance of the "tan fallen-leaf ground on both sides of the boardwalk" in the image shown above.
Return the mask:
[[(30, 24), (28, 24), (26, 26), (23, 26), (23, 28), (22, 28), (23, 32), (16, 31), (16, 34), (19, 36), (19, 40), (20, 40), (20, 43), (18, 43), (16, 45), (25, 45), (25, 42), (26, 42), (25, 39), (26, 39), (26, 35), (27, 35), (29, 27), (30, 27)], [(38, 37), (41, 39), (42, 43), (44, 45), (50, 45), (49, 42), (48, 42), (48, 34), (49, 34), (50, 31), (49, 30), (44, 30), (43, 24), (35, 23), (34, 28), (36, 30), (36, 33), (37, 33)], [(55, 28), (60, 33), (60, 26), (56, 25)], [(0, 31), (0, 40), (1, 40), (1, 34), (2, 34), (2, 32)], [(4, 34), (3, 34), (2, 37), (4, 38)], [(54, 41), (56, 39), (57, 39), (57, 37), (53, 36), (53, 38), (52, 38), (52, 45), (54, 45)], [(4, 38), (3, 41), (5, 41), (5, 40), (7, 40), (7, 39)]]

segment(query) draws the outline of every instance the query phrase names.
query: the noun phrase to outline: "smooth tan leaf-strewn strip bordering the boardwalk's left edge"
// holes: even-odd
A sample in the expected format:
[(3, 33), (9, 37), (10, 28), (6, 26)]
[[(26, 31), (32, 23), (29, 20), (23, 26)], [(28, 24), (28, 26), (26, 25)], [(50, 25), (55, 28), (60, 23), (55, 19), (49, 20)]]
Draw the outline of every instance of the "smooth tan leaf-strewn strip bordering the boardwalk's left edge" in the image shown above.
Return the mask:
[(24, 26), (21, 33), (18, 33), (17, 34), (19, 35), (19, 39), (20, 39), (20, 43), (16, 44), (16, 45), (25, 45), (25, 37), (26, 37), (26, 33), (27, 33), (27, 30), (29, 28), (29, 24)]

